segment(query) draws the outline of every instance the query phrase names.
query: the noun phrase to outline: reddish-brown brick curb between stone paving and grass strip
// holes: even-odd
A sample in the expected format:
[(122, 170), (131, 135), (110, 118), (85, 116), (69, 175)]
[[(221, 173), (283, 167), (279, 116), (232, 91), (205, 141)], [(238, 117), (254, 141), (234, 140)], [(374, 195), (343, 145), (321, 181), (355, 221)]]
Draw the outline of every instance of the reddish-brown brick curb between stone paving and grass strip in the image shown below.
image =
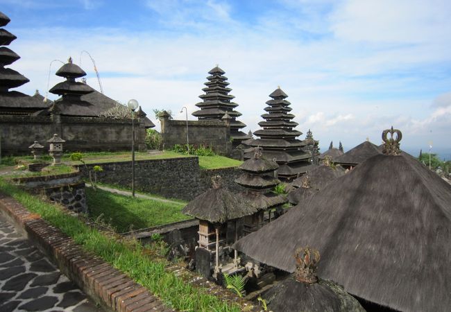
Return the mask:
[(174, 311), (164, 307), (146, 288), (99, 257), (83, 251), (60, 229), (2, 193), (0, 212), (106, 311)]

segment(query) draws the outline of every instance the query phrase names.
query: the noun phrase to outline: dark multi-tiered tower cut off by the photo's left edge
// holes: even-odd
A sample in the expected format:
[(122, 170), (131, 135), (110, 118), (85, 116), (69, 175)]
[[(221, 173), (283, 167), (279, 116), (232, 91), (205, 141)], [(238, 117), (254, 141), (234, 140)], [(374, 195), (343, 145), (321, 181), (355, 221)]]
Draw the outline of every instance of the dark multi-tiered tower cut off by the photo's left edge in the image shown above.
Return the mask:
[[(10, 18), (0, 12), (0, 27), (8, 25)], [(5, 68), (19, 60), (20, 56), (6, 48), (17, 37), (0, 28), (0, 114), (31, 114), (47, 107), (46, 103), (21, 92), (9, 91), (28, 83), (28, 78), (17, 71)]]

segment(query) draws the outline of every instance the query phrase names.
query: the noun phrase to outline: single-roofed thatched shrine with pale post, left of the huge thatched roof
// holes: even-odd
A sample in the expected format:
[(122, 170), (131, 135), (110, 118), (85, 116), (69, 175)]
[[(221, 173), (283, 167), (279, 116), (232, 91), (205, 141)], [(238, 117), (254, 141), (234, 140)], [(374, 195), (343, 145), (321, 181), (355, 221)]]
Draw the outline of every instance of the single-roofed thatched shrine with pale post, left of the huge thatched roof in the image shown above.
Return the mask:
[[(230, 257), (232, 243), (238, 240), (237, 221), (255, 214), (258, 209), (234, 193), (223, 189), (221, 177), (212, 178), (213, 188), (201, 193), (186, 205), (182, 213), (199, 220), (199, 240), (196, 248), (196, 270), (205, 277), (220, 272), (236, 272), (239, 268), (237, 252)], [(234, 234), (229, 236), (232, 225)], [(244, 270), (244, 268), (243, 268)]]

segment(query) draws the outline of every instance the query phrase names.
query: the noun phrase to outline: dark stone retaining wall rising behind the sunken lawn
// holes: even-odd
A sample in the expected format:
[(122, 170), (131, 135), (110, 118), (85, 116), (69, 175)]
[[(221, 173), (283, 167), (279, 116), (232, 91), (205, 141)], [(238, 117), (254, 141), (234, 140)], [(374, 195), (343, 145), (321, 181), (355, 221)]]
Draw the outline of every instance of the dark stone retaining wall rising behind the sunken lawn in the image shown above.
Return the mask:
[[(97, 164), (88, 164), (92, 168)], [(97, 172), (97, 180), (106, 184), (117, 184), (131, 188), (131, 162), (109, 162), (99, 164), (103, 171)], [(87, 177), (83, 166), (79, 170)], [(239, 191), (234, 180), (241, 174), (237, 168), (201, 170), (198, 157), (171, 159), (148, 159), (135, 162), (136, 190), (158, 194), (167, 198), (192, 200), (212, 187), (211, 177), (221, 175), (224, 187)]]

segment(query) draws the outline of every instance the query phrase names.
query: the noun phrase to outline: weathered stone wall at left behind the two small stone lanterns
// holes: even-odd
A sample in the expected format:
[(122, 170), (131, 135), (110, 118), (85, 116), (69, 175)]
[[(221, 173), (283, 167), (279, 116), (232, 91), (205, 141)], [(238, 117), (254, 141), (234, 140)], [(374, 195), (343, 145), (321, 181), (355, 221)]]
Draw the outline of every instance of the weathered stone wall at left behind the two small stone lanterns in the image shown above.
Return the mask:
[[(0, 115), (1, 155), (29, 154), (28, 146), (46, 143), (56, 133), (66, 142), (66, 151), (130, 150), (132, 123), (129, 119), (99, 117)], [(145, 150), (146, 129), (135, 120), (135, 146)]]

